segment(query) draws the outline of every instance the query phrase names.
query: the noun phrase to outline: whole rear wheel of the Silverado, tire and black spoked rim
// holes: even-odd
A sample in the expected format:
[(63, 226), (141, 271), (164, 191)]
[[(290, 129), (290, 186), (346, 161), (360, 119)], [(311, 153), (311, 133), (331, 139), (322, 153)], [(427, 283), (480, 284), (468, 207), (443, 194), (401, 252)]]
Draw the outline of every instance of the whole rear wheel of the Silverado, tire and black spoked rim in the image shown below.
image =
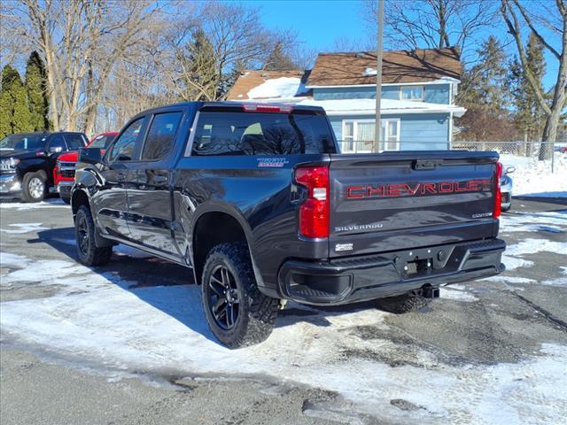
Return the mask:
[(201, 290), (206, 321), (222, 344), (245, 347), (271, 334), (279, 301), (258, 290), (245, 243), (222, 243), (209, 252)]

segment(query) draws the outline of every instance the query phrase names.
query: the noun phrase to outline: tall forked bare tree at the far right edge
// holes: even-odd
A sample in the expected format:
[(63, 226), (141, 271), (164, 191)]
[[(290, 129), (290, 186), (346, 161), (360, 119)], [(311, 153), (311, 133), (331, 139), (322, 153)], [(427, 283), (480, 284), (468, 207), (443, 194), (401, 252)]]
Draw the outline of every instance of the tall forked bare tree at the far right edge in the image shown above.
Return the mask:
[[(555, 0), (555, 7), (551, 2), (539, 4), (532, 2), (530, 6), (528, 10), (526, 4), (519, 0), (501, 0), (501, 15), (509, 34), (516, 42), (525, 78), (546, 115), (541, 141), (553, 143), (567, 98), (567, 3), (564, 0)], [(535, 35), (551, 56), (559, 62), (551, 102), (548, 102), (546, 93), (528, 64), (522, 42), (523, 29)], [(543, 143), (540, 148), (540, 159), (551, 158), (552, 154), (553, 146)]]

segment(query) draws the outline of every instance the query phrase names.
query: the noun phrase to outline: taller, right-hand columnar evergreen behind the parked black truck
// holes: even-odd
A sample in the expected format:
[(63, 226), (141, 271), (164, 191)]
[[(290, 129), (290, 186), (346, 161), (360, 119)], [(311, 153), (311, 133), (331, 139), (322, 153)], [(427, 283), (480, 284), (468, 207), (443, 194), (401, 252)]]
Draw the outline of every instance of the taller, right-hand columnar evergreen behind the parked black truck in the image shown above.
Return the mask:
[(47, 74), (42, 58), (36, 51), (27, 59), (26, 90), (29, 102), (30, 120), (34, 131), (49, 129), (49, 100), (47, 97)]

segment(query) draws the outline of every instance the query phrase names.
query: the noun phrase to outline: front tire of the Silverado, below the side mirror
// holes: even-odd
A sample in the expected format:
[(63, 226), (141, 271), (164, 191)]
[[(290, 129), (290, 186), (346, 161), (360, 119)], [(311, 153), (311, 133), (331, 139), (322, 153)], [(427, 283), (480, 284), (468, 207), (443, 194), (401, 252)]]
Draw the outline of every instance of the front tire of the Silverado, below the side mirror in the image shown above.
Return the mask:
[[(103, 266), (113, 255), (113, 247), (97, 247), (95, 243), (95, 222), (92, 220), (89, 207), (81, 205), (74, 218), (74, 236), (79, 260), (85, 266)], [(82, 241), (82, 238), (86, 237)]]

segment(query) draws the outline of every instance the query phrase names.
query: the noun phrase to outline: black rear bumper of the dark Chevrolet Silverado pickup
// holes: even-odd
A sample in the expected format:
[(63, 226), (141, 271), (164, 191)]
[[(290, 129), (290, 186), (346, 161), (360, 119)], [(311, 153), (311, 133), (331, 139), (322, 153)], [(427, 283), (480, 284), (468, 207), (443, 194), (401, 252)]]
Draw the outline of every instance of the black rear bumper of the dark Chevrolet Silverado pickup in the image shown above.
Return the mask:
[(505, 269), (501, 264), (505, 249), (504, 241), (492, 239), (330, 261), (289, 260), (278, 274), (278, 289), (283, 298), (312, 305), (392, 297), (425, 284), (447, 285), (499, 274)]

